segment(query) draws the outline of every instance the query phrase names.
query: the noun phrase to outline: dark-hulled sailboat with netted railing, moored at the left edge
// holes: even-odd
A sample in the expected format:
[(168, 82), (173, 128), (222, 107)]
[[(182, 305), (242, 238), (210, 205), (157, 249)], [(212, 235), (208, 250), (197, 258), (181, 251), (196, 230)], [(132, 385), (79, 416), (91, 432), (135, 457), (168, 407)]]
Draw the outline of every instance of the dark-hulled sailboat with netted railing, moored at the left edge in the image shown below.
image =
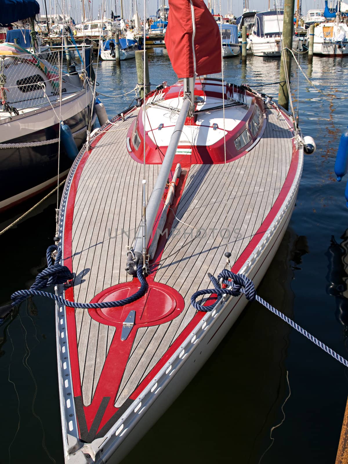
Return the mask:
[[(22, 4), (12, 16), (0, 13), (0, 23), (17, 21)], [(36, 1), (28, 5), (24, 14), (39, 11)], [(73, 156), (60, 146), (61, 123), (71, 130), (76, 155), (96, 119), (91, 53), (91, 46), (83, 48), (81, 79), (76, 70), (62, 75), (61, 49), (46, 60), (18, 44), (0, 44), (0, 211), (55, 185), (69, 172)]]

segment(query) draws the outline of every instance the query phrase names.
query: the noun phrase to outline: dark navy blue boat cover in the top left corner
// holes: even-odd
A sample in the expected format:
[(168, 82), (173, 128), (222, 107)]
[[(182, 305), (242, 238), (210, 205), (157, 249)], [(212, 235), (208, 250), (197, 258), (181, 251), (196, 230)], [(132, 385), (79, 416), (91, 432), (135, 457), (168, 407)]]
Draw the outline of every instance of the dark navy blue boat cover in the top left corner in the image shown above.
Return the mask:
[(9, 27), (12, 23), (39, 13), (40, 6), (36, 0), (0, 0), (1, 27)]

